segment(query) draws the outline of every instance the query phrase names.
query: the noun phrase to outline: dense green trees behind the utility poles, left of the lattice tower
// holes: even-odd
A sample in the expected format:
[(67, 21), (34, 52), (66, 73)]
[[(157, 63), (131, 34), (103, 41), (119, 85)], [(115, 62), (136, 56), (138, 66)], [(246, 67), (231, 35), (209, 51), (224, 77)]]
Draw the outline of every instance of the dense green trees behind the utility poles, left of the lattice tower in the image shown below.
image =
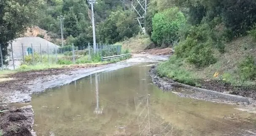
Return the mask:
[[(97, 42), (114, 43), (130, 38), (140, 30), (134, 13), (126, 10), (128, 0), (97, 0), (94, 4)], [(86, 0), (45, 0), (38, 26), (60, 38), (59, 15), (64, 15), (64, 38), (67, 44), (86, 46), (92, 43), (91, 7)], [(125, 10), (125, 11), (124, 11)], [(57, 37), (56, 37), (57, 36)]]

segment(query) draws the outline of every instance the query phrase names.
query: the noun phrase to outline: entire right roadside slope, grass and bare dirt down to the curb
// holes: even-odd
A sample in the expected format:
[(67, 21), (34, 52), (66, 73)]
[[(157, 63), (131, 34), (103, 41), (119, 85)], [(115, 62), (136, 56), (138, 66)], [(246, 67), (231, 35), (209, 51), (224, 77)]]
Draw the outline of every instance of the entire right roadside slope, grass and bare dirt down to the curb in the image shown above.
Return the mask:
[[(160, 64), (156, 71), (161, 77), (183, 84), (256, 99), (256, 77), (243, 79), (243, 76), (251, 74), (243, 71), (248, 68), (248, 56), (256, 58), (255, 44), (249, 36), (238, 38), (226, 44), (225, 53), (214, 52), (217, 62), (205, 68), (197, 68), (174, 54), (170, 60)], [(240, 68), (242, 64), (245, 67)]]

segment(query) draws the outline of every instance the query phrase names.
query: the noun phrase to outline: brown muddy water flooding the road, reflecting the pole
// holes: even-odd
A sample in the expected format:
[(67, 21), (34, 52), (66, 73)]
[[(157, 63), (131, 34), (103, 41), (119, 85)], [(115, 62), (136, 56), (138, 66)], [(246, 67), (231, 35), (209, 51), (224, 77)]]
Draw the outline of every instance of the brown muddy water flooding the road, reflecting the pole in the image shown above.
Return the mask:
[(145, 65), (97, 73), (33, 95), (37, 135), (253, 136), (255, 114), (162, 92)]

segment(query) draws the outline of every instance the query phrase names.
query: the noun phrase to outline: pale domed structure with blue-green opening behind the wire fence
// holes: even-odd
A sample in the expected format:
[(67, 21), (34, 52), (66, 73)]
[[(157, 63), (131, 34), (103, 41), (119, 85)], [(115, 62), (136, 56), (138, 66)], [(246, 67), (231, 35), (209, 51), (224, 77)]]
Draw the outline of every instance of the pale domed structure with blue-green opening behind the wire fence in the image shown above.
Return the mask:
[[(23, 46), (22, 46), (23, 45)], [(13, 58), (14, 60), (22, 60), (22, 55), (30, 55), (33, 52), (46, 54), (48, 51), (51, 54), (52, 51), (56, 51), (59, 46), (43, 39), (41, 37), (21, 37), (14, 39), (13, 46)], [(8, 47), (11, 49), (11, 44)], [(23, 49), (23, 51), (22, 51)], [(10, 53), (10, 60), (12, 53)]]

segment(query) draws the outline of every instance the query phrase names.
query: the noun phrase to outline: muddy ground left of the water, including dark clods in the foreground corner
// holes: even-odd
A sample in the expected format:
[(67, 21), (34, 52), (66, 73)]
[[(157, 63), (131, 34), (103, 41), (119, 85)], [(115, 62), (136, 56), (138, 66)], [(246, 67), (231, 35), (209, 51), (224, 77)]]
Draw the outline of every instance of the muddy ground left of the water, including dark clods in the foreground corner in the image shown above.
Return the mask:
[[(165, 53), (164, 53), (165, 54)], [(133, 58), (106, 65), (73, 65), (40, 71), (27, 71), (5, 75), (1, 78), (11, 80), (0, 83), (0, 131), (3, 136), (32, 136), (32, 107), (16, 108), (8, 103), (30, 102), (32, 93), (69, 84), (85, 76), (102, 71), (136, 65), (142, 62), (159, 62), (168, 56), (134, 55)]]

